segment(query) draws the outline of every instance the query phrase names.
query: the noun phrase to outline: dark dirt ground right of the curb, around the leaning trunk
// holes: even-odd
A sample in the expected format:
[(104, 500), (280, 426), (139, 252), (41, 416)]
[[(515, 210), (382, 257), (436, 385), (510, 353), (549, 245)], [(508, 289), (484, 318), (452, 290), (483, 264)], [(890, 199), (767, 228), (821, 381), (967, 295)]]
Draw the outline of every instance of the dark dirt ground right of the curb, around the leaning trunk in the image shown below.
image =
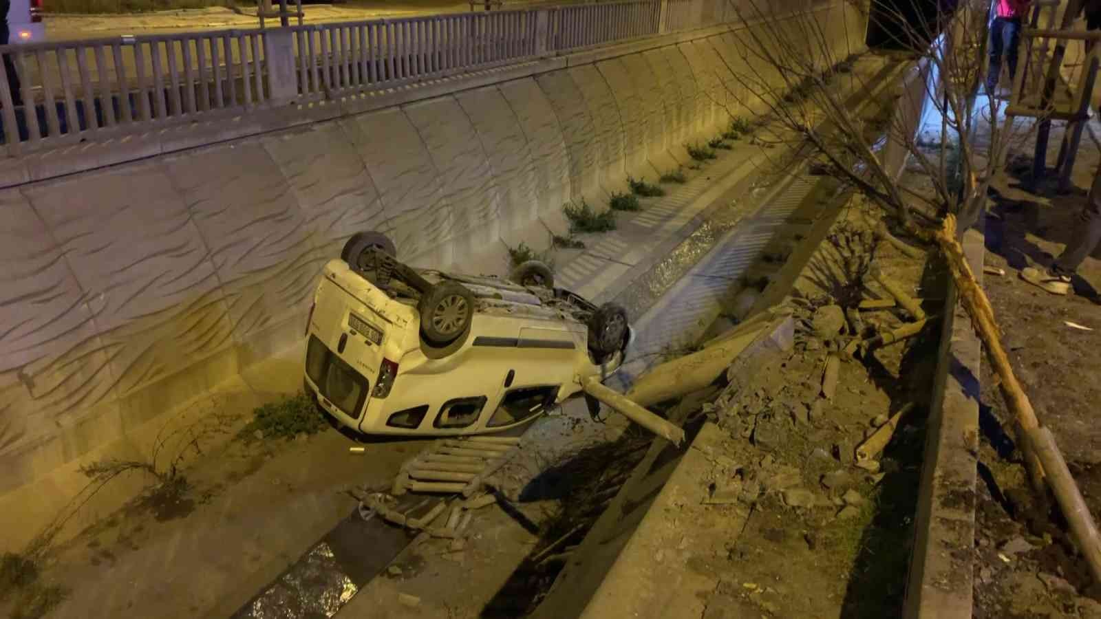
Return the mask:
[[(1058, 146), (1060, 128), (1053, 132)], [(1098, 129), (1098, 127), (1093, 127)], [(1054, 154), (1048, 163), (1054, 163)], [(1077, 215), (1099, 162), (1087, 133), (1073, 174), (1075, 187), (1056, 192), (1051, 180), (1028, 189), (1032, 153), (1010, 158), (985, 217), (988, 265), (983, 287), (1004, 334), (1010, 360), (1040, 424), (1055, 434), (1094, 518), (1101, 514), (1101, 260), (1079, 269), (1076, 294), (1056, 296), (1018, 278), (1032, 264), (1048, 264), (1078, 228)], [(1094, 330), (1069, 326), (1075, 323)], [(980, 618), (1101, 617), (1101, 587), (1091, 585), (1066, 524), (1050, 501), (1028, 488), (1013, 427), (989, 365), (983, 363), (979, 506), (975, 513), (974, 616)]]

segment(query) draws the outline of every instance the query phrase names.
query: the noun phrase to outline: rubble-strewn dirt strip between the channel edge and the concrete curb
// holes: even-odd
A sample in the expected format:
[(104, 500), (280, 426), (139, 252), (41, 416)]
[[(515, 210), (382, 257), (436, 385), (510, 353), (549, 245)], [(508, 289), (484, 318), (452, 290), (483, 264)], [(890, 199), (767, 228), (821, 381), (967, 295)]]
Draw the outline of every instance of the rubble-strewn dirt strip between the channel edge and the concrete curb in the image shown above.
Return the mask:
[[(842, 362), (836, 394), (821, 395), (828, 355), (853, 337), (844, 321), (840, 329), (824, 328), (821, 307), (890, 298), (866, 275), (872, 257), (889, 278), (925, 297), (930, 315), (940, 311), (940, 265), (876, 243), (860, 209), (850, 208), (796, 284), (794, 349), (715, 403), (712, 416), (730, 436), (726, 459), (739, 465), (723, 467), (720, 459), (712, 498), (732, 495), (750, 512), (744, 531), (732, 533), (709, 562), (719, 585), (708, 619), (889, 617), (901, 607), (937, 324)], [(863, 337), (911, 319), (898, 308), (865, 310), (860, 317)], [(854, 448), (907, 405), (883, 453), (858, 466)]]

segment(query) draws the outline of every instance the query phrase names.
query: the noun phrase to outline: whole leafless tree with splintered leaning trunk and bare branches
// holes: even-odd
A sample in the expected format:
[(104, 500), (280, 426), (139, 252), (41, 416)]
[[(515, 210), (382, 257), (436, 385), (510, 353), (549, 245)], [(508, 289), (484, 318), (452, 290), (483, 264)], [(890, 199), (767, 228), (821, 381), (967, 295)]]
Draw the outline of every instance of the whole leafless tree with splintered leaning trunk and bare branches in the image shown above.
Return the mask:
[[(1014, 376), (993, 308), (959, 242), (985, 208), (988, 189), (1009, 146), (1033, 128), (1003, 121), (1002, 101), (979, 93), (986, 74), (989, 3), (959, 0), (926, 11), (919, 0), (911, 4), (876, 0), (877, 10), (869, 19), (885, 22), (895, 46), (914, 63), (902, 97), (890, 104), (894, 109), (881, 110), (887, 120), (880, 131), (865, 127), (843, 95), (829, 87), (839, 73), (848, 73), (847, 58), (817, 12), (777, 15), (757, 0), (744, 1), (734, 7), (751, 24), (740, 47), (744, 68), (735, 74), (746, 93), (740, 102), (750, 109), (763, 107), (782, 132), (809, 144), (829, 172), (896, 218), (906, 235), (936, 246), (1014, 414), (1033, 487), (1053, 491), (1091, 572), (1101, 580), (1101, 535), (1051, 433), (1039, 426)], [(1004, 73), (1001, 77), (1003, 84), (1009, 82)], [(852, 78), (863, 91), (874, 90), (861, 83), (858, 73)], [(939, 121), (933, 140), (918, 137), (927, 109)], [(877, 143), (881, 135), (885, 141)], [(924, 172), (931, 188), (900, 182), (907, 161)]]

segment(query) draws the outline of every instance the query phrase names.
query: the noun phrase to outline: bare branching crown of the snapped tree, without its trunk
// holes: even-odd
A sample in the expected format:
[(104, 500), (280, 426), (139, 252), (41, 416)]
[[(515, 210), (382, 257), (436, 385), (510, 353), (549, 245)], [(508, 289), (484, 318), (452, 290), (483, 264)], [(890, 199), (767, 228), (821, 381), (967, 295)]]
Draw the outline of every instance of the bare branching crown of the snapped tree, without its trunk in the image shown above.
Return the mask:
[[(909, 234), (947, 214), (966, 229), (981, 213), (1006, 149), (1024, 138), (1024, 130), (1021, 123), (1003, 127), (998, 119), (1004, 104), (979, 95), (989, 4), (964, 0), (929, 11), (927, 3), (912, 2), (880, 2), (865, 13), (873, 24), (887, 26), (897, 53), (913, 62), (897, 101), (869, 102), (880, 108), (875, 116), (883, 127), (868, 127), (846, 95), (830, 87), (844, 75), (860, 89), (873, 90), (851, 72), (853, 50), (830, 40), (825, 18), (813, 11), (781, 18), (759, 0), (734, 7), (743, 21), (754, 24), (739, 47), (743, 68), (734, 77), (745, 93), (740, 102), (763, 108), (791, 137), (810, 144), (833, 174), (896, 217)], [(917, 134), (923, 116), (939, 124), (931, 139)], [(897, 182), (907, 159), (929, 177), (931, 192)]]

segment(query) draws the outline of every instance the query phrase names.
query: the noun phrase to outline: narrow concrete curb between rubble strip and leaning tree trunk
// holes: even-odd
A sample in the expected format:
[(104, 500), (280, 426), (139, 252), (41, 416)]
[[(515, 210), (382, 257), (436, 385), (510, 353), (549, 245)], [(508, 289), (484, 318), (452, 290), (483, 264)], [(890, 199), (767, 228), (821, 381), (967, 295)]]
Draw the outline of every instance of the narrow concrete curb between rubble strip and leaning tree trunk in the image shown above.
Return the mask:
[[(984, 236), (963, 235), (963, 253), (980, 287)], [(975, 477), (979, 454), (979, 377), (982, 346), (958, 291), (948, 283), (944, 324), (926, 430), (915, 543), (903, 617), (966, 619), (973, 604)]]

